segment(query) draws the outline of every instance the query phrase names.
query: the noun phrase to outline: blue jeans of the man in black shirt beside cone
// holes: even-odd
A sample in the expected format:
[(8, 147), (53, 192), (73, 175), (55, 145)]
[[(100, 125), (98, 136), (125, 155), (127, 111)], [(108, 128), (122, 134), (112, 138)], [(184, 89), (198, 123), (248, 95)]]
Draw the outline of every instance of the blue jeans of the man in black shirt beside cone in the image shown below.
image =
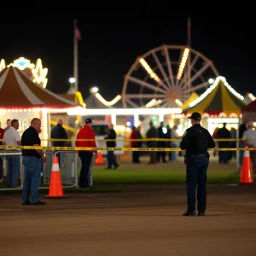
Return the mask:
[(42, 160), (38, 157), (23, 156), (24, 181), (22, 188), (22, 202), (30, 201), (32, 203), (39, 201), (39, 184), (41, 181)]

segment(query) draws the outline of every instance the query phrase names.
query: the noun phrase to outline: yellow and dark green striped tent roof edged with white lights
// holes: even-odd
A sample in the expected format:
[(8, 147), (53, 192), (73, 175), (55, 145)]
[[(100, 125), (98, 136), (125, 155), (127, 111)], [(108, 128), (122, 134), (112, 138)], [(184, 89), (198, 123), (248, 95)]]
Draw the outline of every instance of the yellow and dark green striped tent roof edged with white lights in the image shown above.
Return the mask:
[(224, 77), (218, 77), (199, 98), (189, 103), (189, 108), (184, 109), (183, 113), (199, 112), (209, 116), (238, 116), (241, 114), (241, 108), (246, 105), (244, 97), (237, 93)]

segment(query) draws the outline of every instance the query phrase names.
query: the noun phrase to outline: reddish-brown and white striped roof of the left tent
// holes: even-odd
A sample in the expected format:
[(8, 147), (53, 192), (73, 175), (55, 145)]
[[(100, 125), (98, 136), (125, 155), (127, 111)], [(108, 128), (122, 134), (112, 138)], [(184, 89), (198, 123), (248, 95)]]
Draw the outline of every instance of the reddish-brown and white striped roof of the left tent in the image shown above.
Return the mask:
[(7, 67), (0, 73), (0, 108), (2, 109), (47, 108), (49, 111), (59, 109), (63, 112), (65, 109), (79, 107), (80, 104), (33, 83), (16, 67)]

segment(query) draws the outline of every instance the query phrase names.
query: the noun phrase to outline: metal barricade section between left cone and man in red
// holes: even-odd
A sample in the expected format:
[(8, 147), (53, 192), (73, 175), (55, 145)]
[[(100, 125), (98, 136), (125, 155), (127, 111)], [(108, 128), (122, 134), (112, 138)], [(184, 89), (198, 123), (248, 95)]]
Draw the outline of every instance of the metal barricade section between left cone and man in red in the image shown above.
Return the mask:
[(59, 158), (61, 183), (64, 188), (76, 187), (78, 184), (78, 156), (76, 151), (56, 151)]

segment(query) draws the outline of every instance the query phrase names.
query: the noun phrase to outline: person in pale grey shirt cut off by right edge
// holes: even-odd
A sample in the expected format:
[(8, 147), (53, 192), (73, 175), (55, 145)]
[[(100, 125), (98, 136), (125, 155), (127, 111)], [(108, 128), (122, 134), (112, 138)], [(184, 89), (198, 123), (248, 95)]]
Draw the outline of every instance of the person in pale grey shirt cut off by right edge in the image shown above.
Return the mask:
[[(256, 131), (253, 130), (253, 123), (249, 123), (247, 131), (243, 132), (242, 140), (249, 148), (256, 148)], [(256, 151), (250, 150), (250, 158), (253, 163), (253, 173), (256, 173)]]

